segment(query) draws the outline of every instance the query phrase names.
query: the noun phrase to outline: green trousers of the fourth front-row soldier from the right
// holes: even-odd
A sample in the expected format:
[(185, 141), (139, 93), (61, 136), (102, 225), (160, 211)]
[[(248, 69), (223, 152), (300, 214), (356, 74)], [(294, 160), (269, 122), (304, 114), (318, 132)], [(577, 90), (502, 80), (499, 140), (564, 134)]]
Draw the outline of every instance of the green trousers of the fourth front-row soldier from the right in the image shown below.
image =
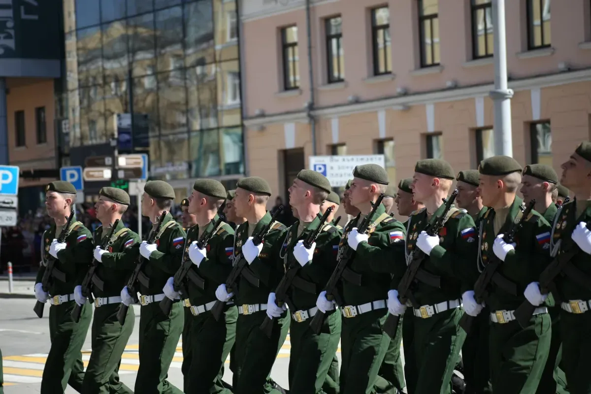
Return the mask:
[(340, 394), (374, 393), (379, 367), (390, 344), (382, 331), (388, 310), (378, 309), (343, 318)]

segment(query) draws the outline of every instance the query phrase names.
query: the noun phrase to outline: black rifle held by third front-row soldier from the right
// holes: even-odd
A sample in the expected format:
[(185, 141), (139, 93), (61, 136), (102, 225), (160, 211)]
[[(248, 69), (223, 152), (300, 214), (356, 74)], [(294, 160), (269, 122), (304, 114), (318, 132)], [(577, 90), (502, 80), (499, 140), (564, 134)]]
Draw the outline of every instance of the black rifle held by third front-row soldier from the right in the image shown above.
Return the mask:
[[(457, 193), (459, 192), (456, 189), (453, 191), (452, 196), (450, 196), (447, 199), (443, 198), (445, 208), (439, 217), (437, 217), (435, 220), (433, 220), (433, 222), (428, 223), (427, 226), (425, 226), (424, 232), (426, 232), (427, 235), (431, 237), (439, 236), (439, 230), (441, 230), (441, 228), (444, 226), (446, 222), (447, 214), (449, 213), (449, 210), (452, 209), (454, 201), (456, 201)], [(411, 286), (413, 286), (415, 279), (421, 281), (421, 279), (432, 277), (433, 281), (431, 282), (434, 285), (437, 285), (437, 287), (440, 286), (439, 277), (431, 276), (427, 271), (423, 271), (421, 269), (421, 265), (423, 264), (423, 261), (426, 258), (427, 255), (425, 252), (423, 252), (423, 250), (421, 250), (420, 248), (416, 248), (414, 250), (412, 255), (412, 261), (408, 265), (406, 271), (404, 272), (404, 275), (402, 275), (402, 279), (400, 279), (400, 284), (398, 284), (398, 298), (400, 299), (401, 304), (406, 304), (407, 301), (410, 300), (411, 304), (413, 304), (413, 308), (418, 309), (421, 307), (421, 305), (418, 305), (417, 300), (414, 299), (413, 292), (411, 291)], [(427, 279), (424, 282), (431, 284), (429, 279)], [(394, 336), (396, 335), (399, 320), (400, 316), (392, 314), (389, 314), (386, 318), (382, 330), (384, 330), (384, 333), (388, 334), (390, 338), (394, 338)]]

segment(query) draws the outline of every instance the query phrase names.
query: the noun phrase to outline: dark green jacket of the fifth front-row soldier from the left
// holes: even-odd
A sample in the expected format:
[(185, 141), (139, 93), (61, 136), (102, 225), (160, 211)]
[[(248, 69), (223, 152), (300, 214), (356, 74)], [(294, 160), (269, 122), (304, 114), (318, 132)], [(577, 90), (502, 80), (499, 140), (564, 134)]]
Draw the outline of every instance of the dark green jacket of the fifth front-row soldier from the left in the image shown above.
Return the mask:
[[(265, 216), (256, 223), (252, 236), (267, 226), (269, 222), (271, 222), (271, 214), (267, 211)], [(242, 245), (248, 240), (248, 226), (250, 225), (250, 223), (244, 222), (236, 229), (234, 256), (241, 253)], [(261, 253), (245, 268), (251, 270), (254, 276), (260, 280), (259, 286), (252, 285), (244, 278), (244, 275), (241, 275), (238, 294), (236, 294), (236, 305), (267, 304), (269, 292), (275, 291), (275, 286), (281, 280), (284, 272), (282, 262), (278, 258), (281, 249), (280, 236), (283, 230), (285, 230), (285, 226), (280, 222), (271, 225), (271, 229), (265, 235)]]

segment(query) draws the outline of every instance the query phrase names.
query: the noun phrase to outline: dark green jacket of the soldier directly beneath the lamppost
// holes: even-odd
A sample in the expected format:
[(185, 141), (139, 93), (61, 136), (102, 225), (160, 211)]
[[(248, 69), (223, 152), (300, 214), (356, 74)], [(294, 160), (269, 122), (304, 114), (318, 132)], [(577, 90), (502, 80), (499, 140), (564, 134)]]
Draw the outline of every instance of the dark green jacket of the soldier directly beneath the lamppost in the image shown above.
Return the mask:
[[(511, 223), (518, 220), (518, 214), (521, 217), (519, 207), (522, 203), (521, 198), (515, 197), (515, 201), (509, 208), (507, 219), (498, 234), (505, 234)], [(494, 219), (495, 210), (490, 209), (481, 222), (478, 254), (480, 269), (491, 259), (496, 259), (492, 249), (498, 235), (495, 235)], [(515, 243), (517, 244), (515, 250), (507, 253), (505, 262), (501, 263), (496, 272), (517, 284), (517, 295), (509, 294), (498, 286), (492, 285), (489, 298), (486, 300), (491, 311), (517, 309), (525, 299), (523, 295), (525, 287), (530, 282), (537, 281), (540, 278), (540, 273), (550, 262), (550, 226), (540, 213), (531, 211), (530, 216), (524, 220), (521, 229), (517, 231)]]

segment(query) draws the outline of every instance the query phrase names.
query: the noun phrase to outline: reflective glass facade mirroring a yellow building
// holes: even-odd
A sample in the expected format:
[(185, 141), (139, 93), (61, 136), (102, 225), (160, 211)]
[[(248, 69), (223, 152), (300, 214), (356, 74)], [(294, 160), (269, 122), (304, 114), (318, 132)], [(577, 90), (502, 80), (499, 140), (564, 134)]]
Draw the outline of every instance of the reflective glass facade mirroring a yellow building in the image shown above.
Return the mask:
[(69, 145), (108, 142), (133, 110), (151, 178), (243, 174), (236, 2), (64, 0)]

